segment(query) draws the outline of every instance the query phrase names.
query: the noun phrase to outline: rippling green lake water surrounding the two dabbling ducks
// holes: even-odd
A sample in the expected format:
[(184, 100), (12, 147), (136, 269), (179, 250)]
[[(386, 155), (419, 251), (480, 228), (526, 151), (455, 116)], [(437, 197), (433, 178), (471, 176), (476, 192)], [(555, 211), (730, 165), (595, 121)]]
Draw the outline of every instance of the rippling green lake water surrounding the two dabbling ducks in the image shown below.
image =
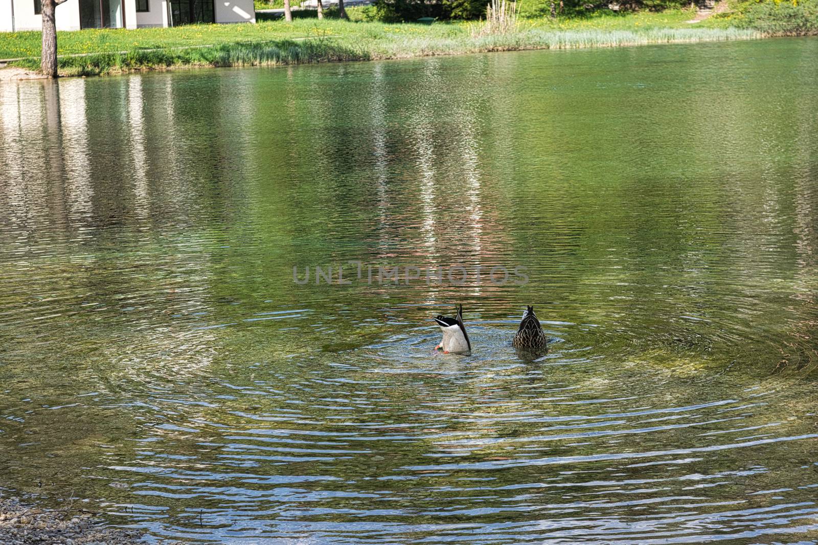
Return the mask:
[(153, 540), (816, 543), (816, 59), (3, 83), (0, 485)]

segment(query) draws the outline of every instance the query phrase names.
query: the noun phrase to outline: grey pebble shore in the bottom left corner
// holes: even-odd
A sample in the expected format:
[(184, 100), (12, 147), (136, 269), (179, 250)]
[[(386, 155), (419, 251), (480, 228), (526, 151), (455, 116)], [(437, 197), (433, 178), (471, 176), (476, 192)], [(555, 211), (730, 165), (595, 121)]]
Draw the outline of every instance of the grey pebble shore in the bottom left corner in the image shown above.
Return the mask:
[(145, 543), (142, 533), (110, 529), (81, 510), (41, 509), (17, 498), (0, 498), (0, 543), (29, 545), (132, 545)]

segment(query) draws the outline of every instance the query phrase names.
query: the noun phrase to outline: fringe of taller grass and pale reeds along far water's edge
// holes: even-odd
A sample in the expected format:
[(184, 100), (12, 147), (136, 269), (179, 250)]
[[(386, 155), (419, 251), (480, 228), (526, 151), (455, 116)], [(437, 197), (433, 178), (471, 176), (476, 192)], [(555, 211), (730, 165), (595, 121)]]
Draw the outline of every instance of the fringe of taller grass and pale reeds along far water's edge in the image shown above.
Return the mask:
[[(732, 42), (771, 38), (746, 29), (674, 29), (644, 31), (525, 30), (483, 37), (415, 38), (389, 42), (383, 38), (349, 47), (343, 40), (327, 38), (279, 39), (262, 42), (222, 43), (213, 46), (167, 47), (149, 51), (83, 53), (60, 56), (60, 77), (120, 75), (151, 71), (194, 70), (248, 66), (285, 66), (329, 62), (390, 61), (425, 56), (454, 56), (489, 52), (546, 49), (594, 49), (642, 45)], [(38, 63), (38, 61), (36, 61)], [(28, 64), (28, 66), (26, 66)], [(0, 82), (44, 79), (29, 66), (14, 61), (0, 68)]]

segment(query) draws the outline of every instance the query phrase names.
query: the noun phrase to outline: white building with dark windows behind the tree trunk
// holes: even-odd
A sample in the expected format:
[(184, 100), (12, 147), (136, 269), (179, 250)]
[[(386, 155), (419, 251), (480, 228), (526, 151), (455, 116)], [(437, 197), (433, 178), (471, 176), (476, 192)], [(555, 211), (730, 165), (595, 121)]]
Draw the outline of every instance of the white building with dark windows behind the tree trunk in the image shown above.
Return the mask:
[[(42, 29), (41, 1), (0, 0), (0, 31)], [(56, 7), (57, 30), (254, 22), (253, 0), (66, 0)]]

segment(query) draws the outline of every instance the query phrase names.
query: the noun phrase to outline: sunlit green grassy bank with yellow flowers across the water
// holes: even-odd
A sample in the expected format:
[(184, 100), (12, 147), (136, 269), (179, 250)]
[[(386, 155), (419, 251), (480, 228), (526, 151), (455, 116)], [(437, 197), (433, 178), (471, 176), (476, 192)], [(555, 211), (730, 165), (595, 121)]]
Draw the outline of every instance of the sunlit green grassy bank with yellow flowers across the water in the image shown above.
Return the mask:
[[(479, 35), (480, 23), (434, 25), (314, 19), (257, 25), (190, 25), (173, 29), (89, 29), (58, 33), (65, 75), (112, 74), (175, 66), (285, 65), (366, 61), (469, 52), (618, 47), (760, 37), (726, 21), (690, 25), (691, 11), (603, 12), (577, 19), (521, 20), (506, 34)], [(38, 67), (40, 34), (0, 34), (0, 58), (29, 57), (13, 65)], [(71, 56), (79, 55), (79, 56)]]

